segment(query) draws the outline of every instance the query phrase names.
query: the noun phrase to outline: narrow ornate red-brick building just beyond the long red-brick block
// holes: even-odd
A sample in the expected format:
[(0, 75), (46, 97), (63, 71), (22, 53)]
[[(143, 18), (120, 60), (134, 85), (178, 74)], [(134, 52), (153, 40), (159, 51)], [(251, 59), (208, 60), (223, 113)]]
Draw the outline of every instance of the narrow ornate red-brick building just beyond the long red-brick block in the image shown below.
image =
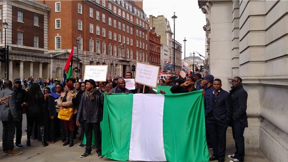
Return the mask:
[(161, 66), (161, 36), (155, 33), (155, 28), (150, 28), (149, 31), (149, 63), (152, 65)]

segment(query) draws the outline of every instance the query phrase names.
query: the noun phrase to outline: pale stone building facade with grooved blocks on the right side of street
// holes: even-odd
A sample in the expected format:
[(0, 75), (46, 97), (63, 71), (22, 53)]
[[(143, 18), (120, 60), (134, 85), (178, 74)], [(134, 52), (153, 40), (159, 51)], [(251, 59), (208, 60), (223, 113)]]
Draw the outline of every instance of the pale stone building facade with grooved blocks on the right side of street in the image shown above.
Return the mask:
[(198, 1), (206, 14), (210, 74), (248, 93), (245, 146), (288, 161), (288, 1)]

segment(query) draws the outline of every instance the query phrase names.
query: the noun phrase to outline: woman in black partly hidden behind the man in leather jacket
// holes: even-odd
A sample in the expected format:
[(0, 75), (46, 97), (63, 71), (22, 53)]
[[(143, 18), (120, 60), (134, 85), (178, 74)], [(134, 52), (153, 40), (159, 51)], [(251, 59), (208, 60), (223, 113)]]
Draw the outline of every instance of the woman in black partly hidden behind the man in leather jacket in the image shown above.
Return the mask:
[[(83, 82), (83, 83), (81, 83), (81, 87), (80, 87), (80, 90), (79, 90), (79, 92), (77, 93), (77, 95), (76, 95), (76, 93), (71, 93), (73, 105), (75, 105), (75, 106), (77, 106), (77, 107), (79, 106), (80, 101), (81, 101), (81, 98), (82, 98), (82, 95), (83, 95), (83, 93), (85, 92), (85, 90), (86, 90), (85, 82)], [(82, 147), (85, 146), (85, 145), (82, 143), (82, 142), (83, 142), (84, 133), (85, 133), (84, 122), (83, 122), (83, 121), (80, 121), (80, 124), (81, 124), (81, 135), (80, 135), (81, 143), (80, 143), (80, 145), (78, 146), (78, 148), (82, 148)]]

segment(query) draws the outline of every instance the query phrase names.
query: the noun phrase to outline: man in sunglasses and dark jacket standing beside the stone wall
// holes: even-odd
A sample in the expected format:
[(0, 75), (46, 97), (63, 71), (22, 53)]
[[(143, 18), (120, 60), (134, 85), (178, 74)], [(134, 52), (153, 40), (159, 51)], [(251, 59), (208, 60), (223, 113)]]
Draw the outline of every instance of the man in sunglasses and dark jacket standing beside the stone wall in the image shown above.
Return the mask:
[(248, 94), (242, 86), (242, 79), (234, 77), (230, 90), (232, 102), (232, 133), (235, 140), (236, 152), (233, 155), (228, 155), (230, 162), (243, 162), (245, 155), (244, 147), (244, 129), (248, 127), (247, 121), (247, 98)]

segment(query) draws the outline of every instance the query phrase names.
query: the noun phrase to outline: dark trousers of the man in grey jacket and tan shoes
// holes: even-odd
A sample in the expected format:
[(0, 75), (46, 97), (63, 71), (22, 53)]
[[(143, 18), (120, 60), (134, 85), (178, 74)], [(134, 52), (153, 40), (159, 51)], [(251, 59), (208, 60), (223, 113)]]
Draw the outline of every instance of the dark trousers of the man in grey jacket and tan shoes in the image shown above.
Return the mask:
[(3, 126), (3, 134), (2, 134), (3, 151), (13, 150), (16, 122), (15, 121), (2, 121), (2, 126)]

